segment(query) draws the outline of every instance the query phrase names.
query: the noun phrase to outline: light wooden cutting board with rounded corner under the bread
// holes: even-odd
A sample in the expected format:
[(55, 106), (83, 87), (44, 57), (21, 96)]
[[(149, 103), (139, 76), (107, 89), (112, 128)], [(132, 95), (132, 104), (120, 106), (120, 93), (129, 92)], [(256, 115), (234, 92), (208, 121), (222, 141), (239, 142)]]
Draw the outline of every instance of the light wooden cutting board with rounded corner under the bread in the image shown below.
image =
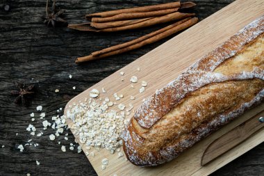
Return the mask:
[[(162, 88), (175, 79), (186, 67), (192, 65), (201, 56), (215, 49), (231, 35), (234, 35), (261, 15), (264, 15), (264, 1), (235, 1), (77, 95), (68, 102), (65, 107), (65, 113), (70, 104), (79, 103), (85, 97), (89, 97), (89, 91), (92, 88), (97, 88), (97, 90), (101, 91), (103, 87), (106, 89), (106, 93), (101, 93), (101, 98), (109, 97), (113, 101), (114, 93), (123, 94), (124, 98), (117, 103), (122, 102), (128, 107), (129, 102), (132, 102), (133, 109), (137, 109), (142, 103), (142, 99), (152, 95), (156, 89)], [(140, 71), (137, 70), (138, 67), (140, 67)], [(121, 76), (119, 72), (124, 72), (124, 76)], [(129, 81), (132, 76), (136, 76), (139, 79), (138, 83), (134, 83), (135, 88), (131, 88), (131, 82)], [(122, 78), (124, 81), (121, 81)], [(144, 93), (139, 93), (141, 81), (147, 81), (148, 83)], [(135, 100), (131, 100), (130, 95), (134, 95), (136, 97)], [(201, 156), (212, 141), (263, 109), (264, 104), (262, 103), (200, 141), (191, 147), (190, 150), (183, 152), (178, 158), (154, 168), (133, 166), (132, 163), (126, 161), (126, 157), (117, 159), (116, 153), (110, 154), (107, 150), (87, 150), (85, 147), (83, 147), (83, 150), (94, 152), (95, 157), (89, 155), (88, 159), (98, 175), (209, 175), (264, 141), (264, 130), (262, 129), (208, 165), (203, 167), (200, 165)], [(67, 124), (70, 127), (72, 122), (67, 120)], [(74, 129), (71, 130), (74, 133)], [(77, 136), (75, 137), (78, 140)], [(109, 160), (105, 170), (101, 169), (101, 159), (103, 158)]]

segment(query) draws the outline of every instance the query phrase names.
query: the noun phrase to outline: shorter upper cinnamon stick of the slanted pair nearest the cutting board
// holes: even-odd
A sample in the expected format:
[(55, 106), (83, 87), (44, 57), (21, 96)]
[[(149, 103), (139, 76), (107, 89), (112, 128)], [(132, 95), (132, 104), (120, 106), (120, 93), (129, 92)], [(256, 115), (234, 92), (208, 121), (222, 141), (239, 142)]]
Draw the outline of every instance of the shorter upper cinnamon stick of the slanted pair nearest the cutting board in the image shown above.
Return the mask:
[(124, 47), (129, 47), (129, 46), (131, 46), (131, 45), (135, 45), (136, 43), (142, 42), (142, 41), (144, 41), (144, 40), (147, 40), (147, 39), (149, 39), (149, 38), (154, 37), (155, 35), (158, 35), (158, 34), (160, 34), (160, 33), (163, 33), (164, 31), (167, 31), (167, 30), (169, 30), (169, 29), (172, 29), (174, 26), (178, 26), (179, 24), (182, 24), (183, 22), (187, 22), (189, 19), (191, 19), (191, 17), (188, 17), (188, 18), (182, 19), (182, 20), (179, 21), (179, 22), (176, 22), (176, 23), (174, 23), (174, 24), (171, 24), (171, 25), (169, 25), (169, 26), (166, 26), (165, 28), (163, 28), (163, 29), (159, 29), (158, 31), (154, 31), (154, 32), (152, 32), (152, 33), (149, 33), (149, 34), (147, 34), (147, 35), (144, 35), (144, 36), (142, 36), (142, 37), (140, 37), (140, 38), (136, 38), (135, 40), (131, 40), (131, 41), (129, 41), (129, 42), (124, 42), (124, 43), (122, 43), (122, 44), (115, 45), (115, 46), (113, 46), (113, 47), (108, 47), (108, 48), (106, 48), (106, 49), (102, 49), (102, 50), (100, 50), (100, 51), (94, 51), (94, 52), (92, 52), (92, 56), (98, 56), (98, 55), (101, 55), (101, 54), (106, 54), (106, 53), (108, 53), (108, 52), (110, 52), (110, 51), (115, 51), (115, 50), (117, 50), (117, 49), (122, 49), (122, 48), (124, 48)]

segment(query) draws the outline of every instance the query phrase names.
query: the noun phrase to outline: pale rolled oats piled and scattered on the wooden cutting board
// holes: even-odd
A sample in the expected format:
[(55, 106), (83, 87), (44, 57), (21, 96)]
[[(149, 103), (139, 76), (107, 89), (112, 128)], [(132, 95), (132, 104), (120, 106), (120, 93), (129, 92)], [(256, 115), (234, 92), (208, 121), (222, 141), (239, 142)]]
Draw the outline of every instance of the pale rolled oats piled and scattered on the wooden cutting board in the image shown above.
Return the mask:
[[(140, 67), (137, 70), (140, 72)], [(121, 77), (124, 77), (125, 73), (119, 72), (119, 74)], [(138, 83), (138, 77), (133, 76), (129, 81), (136, 86), (135, 83)], [(140, 86), (139, 91), (143, 93), (145, 87), (147, 87), (147, 82), (142, 81)], [(135, 87), (133, 86), (133, 88)], [(106, 93), (105, 88), (101, 88), (101, 90), (103, 93)], [(78, 136), (79, 143), (82, 145), (86, 147), (92, 146), (96, 149), (106, 148), (111, 154), (117, 151), (118, 157), (122, 157), (124, 154), (120, 152), (119, 147), (122, 146), (124, 127), (129, 122), (126, 119), (126, 115), (130, 115), (133, 104), (130, 102), (129, 106), (126, 107), (125, 104), (115, 102), (121, 101), (120, 99), (124, 97), (124, 95), (117, 95), (117, 93), (113, 94), (113, 102), (108, 97), (102, 100), (102, 98), (99, 98), (99, 90), (95, 88), (90, 91), (89, 95), (90, 99), (85, 98), (83, 102), (74, 103), (69, 106), (66, 118), (69, 118), (73, 122), (70, 128), (73, 129), (74, 135)], [(130, 100), (135, 99), (133, 95), (129, 97)], [(110, 106), (111, 110), (108, 110)], [(118, 111), (113, 109), (117, 109)], [(85, 154), (88, 155), (89, 153)], [(90, 155), (94, 156), (94, 153), (92, 152)], [(106, 168), (105, 165), (102, 165), (103, 169)]]

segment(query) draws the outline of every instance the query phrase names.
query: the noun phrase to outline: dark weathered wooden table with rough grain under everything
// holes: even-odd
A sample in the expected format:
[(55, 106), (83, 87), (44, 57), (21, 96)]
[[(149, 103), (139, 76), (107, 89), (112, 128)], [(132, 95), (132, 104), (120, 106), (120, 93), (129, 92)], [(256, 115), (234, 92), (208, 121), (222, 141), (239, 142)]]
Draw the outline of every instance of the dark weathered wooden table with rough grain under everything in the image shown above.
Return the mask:
[[(195, 1), (198, 5), (195, 13), (200, 20), (227, 6), (233, 0)], [(170, 0), (62, 0), (56, 6), (66, 10), (65, 19), (69, 23), (84, 21), (84, 15), (116, 8), (146, 6)], [(119, 56), (112, 56), (83, 65), (76, 65), (74, 59), (86, 56), (92, 51), (116, 45), (137, 38), (156, 29), (125, 31), (120, 33), (83, 33), (67, 28), (47, 28), (42, 22), (46, 1), (42, 0), (1, 0), (10, 6), (10, 11), (0, 10), (0, 175), (97, 175), (83, 152), (69, 150), (69, 143), (74, 143), (70, 131), (69, 140), (64, 135), (49, 140), (54, 129), (42, 129), (40, 113), (36, 106), (42, 105), (44, 119), (50, 120), (53, 115), (62, 114), (57, 109), (89, 88), (94, 83), (108, 77), (116, 70), (135, 61), (151, 49), (158, 47), (166, 40), (130, 51)], [(69, 79), (72, 74), (72, 79)], [(15, 82), (35, 83), (37, 93), (31, 106), (25, 107), (14, 103), (11, 90), (16, 90)], [(74, 90), (72, 87), (76, 86)], [(60, 91), (55, 93), (58, 88)], [(30, 113), (35, 113), (31, 121)], [(26, 127), (33, 124), (36, 134), (43, 131), (43, 136), (31, 136)], [(16, 135), (17, 134), (17, 135)], [(38, 143), (39, 146), (24, 147), (24, 152), (17, 149), (19, 144)], [(60, 145), (58, 144), (60, 141)], [(1, 147), (5, 145), (5, 147)], [(67, 152), (60, 150), (67, 146)], [(77, 145), (76, 145), (77, 146)], [(36, 160), (40, 165), (36, 165)], [(264, 144), (258, 145), (238, 159), (220, 168), (212, 175), (263, 175)]]

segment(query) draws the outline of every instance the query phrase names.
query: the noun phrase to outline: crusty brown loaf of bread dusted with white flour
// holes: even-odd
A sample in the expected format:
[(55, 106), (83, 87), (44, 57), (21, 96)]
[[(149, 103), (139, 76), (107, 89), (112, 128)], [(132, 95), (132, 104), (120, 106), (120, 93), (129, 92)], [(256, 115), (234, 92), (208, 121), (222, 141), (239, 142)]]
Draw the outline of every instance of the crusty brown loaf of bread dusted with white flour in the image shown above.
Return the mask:
[(124, 131), (124, 152), (137, 166), (177, 157), (264, 97), (264, 16), (157, 90)]

